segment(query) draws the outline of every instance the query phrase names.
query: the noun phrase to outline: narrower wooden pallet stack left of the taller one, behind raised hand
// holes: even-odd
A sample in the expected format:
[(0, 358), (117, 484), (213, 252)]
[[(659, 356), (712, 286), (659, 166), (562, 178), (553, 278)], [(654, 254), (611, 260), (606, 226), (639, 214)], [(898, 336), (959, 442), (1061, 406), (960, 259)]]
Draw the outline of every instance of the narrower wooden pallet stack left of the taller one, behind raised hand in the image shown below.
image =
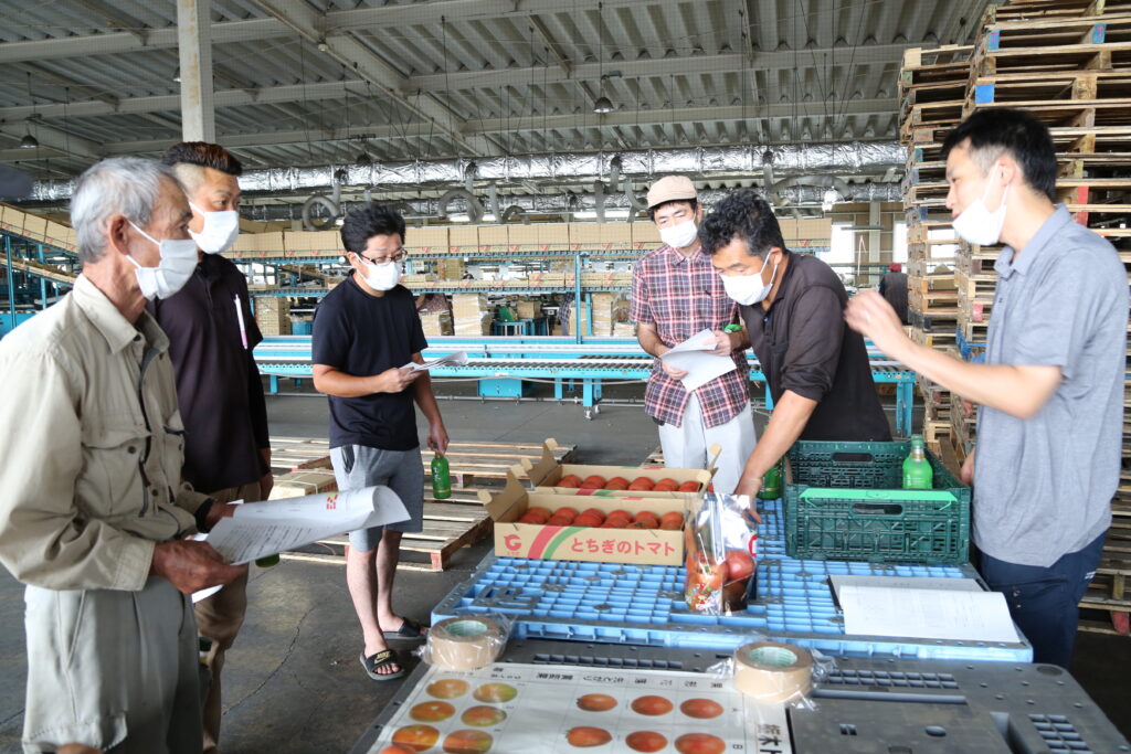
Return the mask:
[[(950, 352), (958, 326), (955, 249), (958, 243), (946, 208), (942, 142), (958, 125), (969, 78), (972, 45), (904, 53), (899, 78), (900, 137), (907, 147), (904, 206), (907, 210), (907, 303), (912, 338)], [(918, 381), (925, 407), (923, 432), (938, 452), (953, 434), (951, 395)]]

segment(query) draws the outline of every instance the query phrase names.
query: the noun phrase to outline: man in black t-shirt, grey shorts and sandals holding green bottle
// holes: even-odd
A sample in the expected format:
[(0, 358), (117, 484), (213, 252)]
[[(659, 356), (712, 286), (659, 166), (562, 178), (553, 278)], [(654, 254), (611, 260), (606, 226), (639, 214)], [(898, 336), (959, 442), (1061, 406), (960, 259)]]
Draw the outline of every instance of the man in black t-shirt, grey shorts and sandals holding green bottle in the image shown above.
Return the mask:
[(416, 437), (420, 406), (429, 423), (429, 447), (448, 450), (448, 432), (423, 363), (428, 347), (403, 275), (405, 220), (371, 203), (351, 213), (342, 242), (353, 267), (314, 317), (314, 388), (329, 396), (330, 460), (339, 489), (386, 485), (400, 497), (407, 521), (349, 534), (346, 583), (361, 622), (361, 664), (374, 681), (404, 675), (387, 639), (420, 639), (421, 629), (392, 612), (392, 577), (405, 531), (420, 531), (424, 470)]

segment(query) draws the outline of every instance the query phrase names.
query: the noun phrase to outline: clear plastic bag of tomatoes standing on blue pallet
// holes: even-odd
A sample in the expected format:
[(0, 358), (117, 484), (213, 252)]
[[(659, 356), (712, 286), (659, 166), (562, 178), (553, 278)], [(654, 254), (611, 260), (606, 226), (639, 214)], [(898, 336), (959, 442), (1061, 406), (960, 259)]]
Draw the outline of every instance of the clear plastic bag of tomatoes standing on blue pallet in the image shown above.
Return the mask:
[(707, 615), (746, 609), (756, 597), (758, 523), (749, 495), (707, 493), (687, 506), (688, 607)]

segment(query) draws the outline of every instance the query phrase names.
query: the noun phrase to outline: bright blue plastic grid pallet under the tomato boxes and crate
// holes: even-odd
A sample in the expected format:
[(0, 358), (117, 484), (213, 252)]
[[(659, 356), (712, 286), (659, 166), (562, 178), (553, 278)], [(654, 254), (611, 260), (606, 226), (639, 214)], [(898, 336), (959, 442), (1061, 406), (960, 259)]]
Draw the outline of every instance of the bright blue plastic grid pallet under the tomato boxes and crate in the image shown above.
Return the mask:
[(834, 574), (977, 578), (969, 565), (892, 565), (786, 557), (780, 503), (762, 514), (758, 598), (744, 613), (701, 615), (683, 601), (682, 566), (495, 558), (489, 555), (432, 612), (502, 613), (517, 639), (729, 651), (759, 633), (835, 656), (1030, 662), (1028, 643), (851, 636), (832, 601)]

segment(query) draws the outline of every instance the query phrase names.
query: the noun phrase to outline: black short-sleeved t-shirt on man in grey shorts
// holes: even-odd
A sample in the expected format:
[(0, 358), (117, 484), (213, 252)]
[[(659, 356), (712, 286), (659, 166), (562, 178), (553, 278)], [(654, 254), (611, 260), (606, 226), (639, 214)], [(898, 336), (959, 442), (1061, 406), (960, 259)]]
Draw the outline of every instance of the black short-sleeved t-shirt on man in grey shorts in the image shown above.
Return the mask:
[[(352, 376), (400, 367), (428, 348), (413, 294), (397, 286), (372, 296), (346, 278), (314, 312), (314, 364)], [(330, 448), (365, 445), (378, 450), (420, 447), (412, 388), (359, 398), (329, 396)]]

